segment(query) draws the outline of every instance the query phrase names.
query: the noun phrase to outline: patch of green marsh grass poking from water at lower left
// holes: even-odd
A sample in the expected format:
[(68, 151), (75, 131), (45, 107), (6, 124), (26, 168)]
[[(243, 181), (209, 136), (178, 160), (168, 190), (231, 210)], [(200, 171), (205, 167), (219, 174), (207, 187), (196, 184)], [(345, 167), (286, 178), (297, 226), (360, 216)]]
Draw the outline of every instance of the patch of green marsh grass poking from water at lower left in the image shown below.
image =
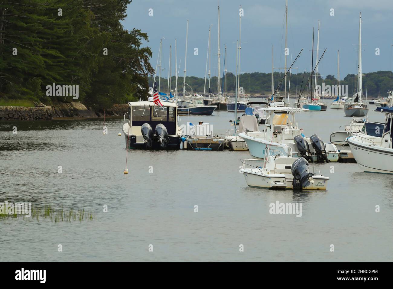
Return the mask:
[(73, 210), (73, 208), (68, 210), (64, 208), (55, 210), (50, 205), (44, 205), (41, 208), (32, 208), (31, 217), (26, 217), (25, 215), (19, 214), (0, 214), (0, 219), (17, 218), (22, 216), (24, 220), (36, 219), (37, 222), (42, 220), (50, 220), (52, 222), (54, 221), (55, 223), (72, 221), (82, 222), (83, 220), (93, 221), (97, 219), (94, 212), (86, 212), (84, 208), (76, 211)]

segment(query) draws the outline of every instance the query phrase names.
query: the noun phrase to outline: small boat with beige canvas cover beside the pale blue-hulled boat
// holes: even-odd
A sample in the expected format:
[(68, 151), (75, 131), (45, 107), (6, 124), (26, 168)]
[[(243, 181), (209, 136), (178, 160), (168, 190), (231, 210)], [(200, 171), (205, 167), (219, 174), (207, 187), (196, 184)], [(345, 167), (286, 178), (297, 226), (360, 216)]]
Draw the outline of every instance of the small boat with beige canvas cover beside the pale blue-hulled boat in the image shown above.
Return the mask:
[(246, 142), (238, 135), (247, 131), (259, 132), (257, 118), (252, 115), (244, 115), (240, 118), (239, 129), (226, 131), (225, 144), (231, 151), (248, 151)]

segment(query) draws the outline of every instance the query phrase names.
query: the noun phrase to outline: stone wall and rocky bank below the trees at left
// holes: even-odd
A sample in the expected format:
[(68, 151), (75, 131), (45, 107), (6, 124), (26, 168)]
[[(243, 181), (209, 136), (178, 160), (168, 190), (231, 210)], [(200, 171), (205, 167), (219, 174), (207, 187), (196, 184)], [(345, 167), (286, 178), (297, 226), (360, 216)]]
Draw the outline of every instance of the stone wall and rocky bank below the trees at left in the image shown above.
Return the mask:
[[(105, 110), (105, 116), (122, 116), (128, 111), (127, 104), (115, 104)], [(102, 112), (95, 112), (78, 102), (54, 103), (51, 106), (42, 103), (36, 107), (0, 106), (0, 121), (10, 120), (53, 120), (56, 118), (103, 118)]]

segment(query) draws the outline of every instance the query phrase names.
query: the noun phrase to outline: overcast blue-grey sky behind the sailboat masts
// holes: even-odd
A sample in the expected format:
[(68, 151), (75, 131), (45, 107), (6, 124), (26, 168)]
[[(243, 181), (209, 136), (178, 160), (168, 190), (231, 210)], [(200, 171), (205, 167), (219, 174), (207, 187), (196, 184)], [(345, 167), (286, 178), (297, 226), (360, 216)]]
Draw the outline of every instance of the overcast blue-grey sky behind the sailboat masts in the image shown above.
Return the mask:
[[(274, 46), (274, 66), (284, 66), (285, 0), (220, 0), (221, 67), (224, 64), (224, 44), (227, 44), (226, 67), (235, 72), (236, 40), (239, 39), (239, 8), (244, 9), (241, 34), (241, 73), (271, 72), (271, 50)], [(334, 16), (330, 16), (331, 9)], [(149, 16), (152, 9), (153, 16)], [(393, 2), (391, 0), (288, 0), (288, 48), (293, 59), (301, 48), (303, 53), (294, 66), (298, 72), (310, 71), (312, 28), (315, 27), (316, 50), (318, 20), (320, 24), (319, 72), (337, 77), (337, 50), (340, 50), (340, 78), (357, 73), (359, 12), (362, 13), (363, 73), (392, 70)], [(217, 0), (133, 0), (123, 22), (126, 29), (138, 28), (149, 35), (155, 68), (160, 39), (163, 39), (162, 76), (167, 77), (169, 45), (172, 44), (172, 74), (174, 75), (174, 39), (177, 38), (180, 76), (184, 70), (186, 22), (189, 19), (187, 75), (204, 77), (211, 27), (211, 72), (217, 75)], [(355, 44), (355, 45), (353, 45)], [(198, 48), (198, 55), (194, 55)], [(375, 55), (375, 49), (380, 55)], [(316, 53), (316, 52), (315, 52)], [(315, 55), (314, 53), (314, 64)], [(287, 57), (290, 66), (290, 55)], [(222, 68), (221, 68), (222, 69)], [(293, 70), (294, 73), (297, 70)]]

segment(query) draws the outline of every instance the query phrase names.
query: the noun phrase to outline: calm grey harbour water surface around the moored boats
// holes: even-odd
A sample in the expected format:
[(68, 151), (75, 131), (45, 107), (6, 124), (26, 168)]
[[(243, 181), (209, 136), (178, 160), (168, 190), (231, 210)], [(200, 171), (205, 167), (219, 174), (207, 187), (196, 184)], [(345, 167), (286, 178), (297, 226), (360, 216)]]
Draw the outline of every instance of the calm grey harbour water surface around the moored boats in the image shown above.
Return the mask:
[[(224, 135), (230, 119), (233, 113), (215, 112), (182, 122), (209, 122)], [(325, 142), (349, 120), (343, 110), (298, 116), (307, 136)], [(370, 112), (369, 120), (383, 115)], [(182, 150), (129, 151), (125, 175), (122, 124), (106, 120), (103, 135), (103, 120), (0, 123), (0, 202), (85, 208), (96, 216), (0, 219), (0, 261), (393, 261), (391, 175), (317, 164), (331, 178), (327, 191), (261, 190), (248, 188), (239, 173), (241, 159), (252, 158), (247, 151)], [(276, 201), (301, 202), (302, 217), (269, 214)]]

